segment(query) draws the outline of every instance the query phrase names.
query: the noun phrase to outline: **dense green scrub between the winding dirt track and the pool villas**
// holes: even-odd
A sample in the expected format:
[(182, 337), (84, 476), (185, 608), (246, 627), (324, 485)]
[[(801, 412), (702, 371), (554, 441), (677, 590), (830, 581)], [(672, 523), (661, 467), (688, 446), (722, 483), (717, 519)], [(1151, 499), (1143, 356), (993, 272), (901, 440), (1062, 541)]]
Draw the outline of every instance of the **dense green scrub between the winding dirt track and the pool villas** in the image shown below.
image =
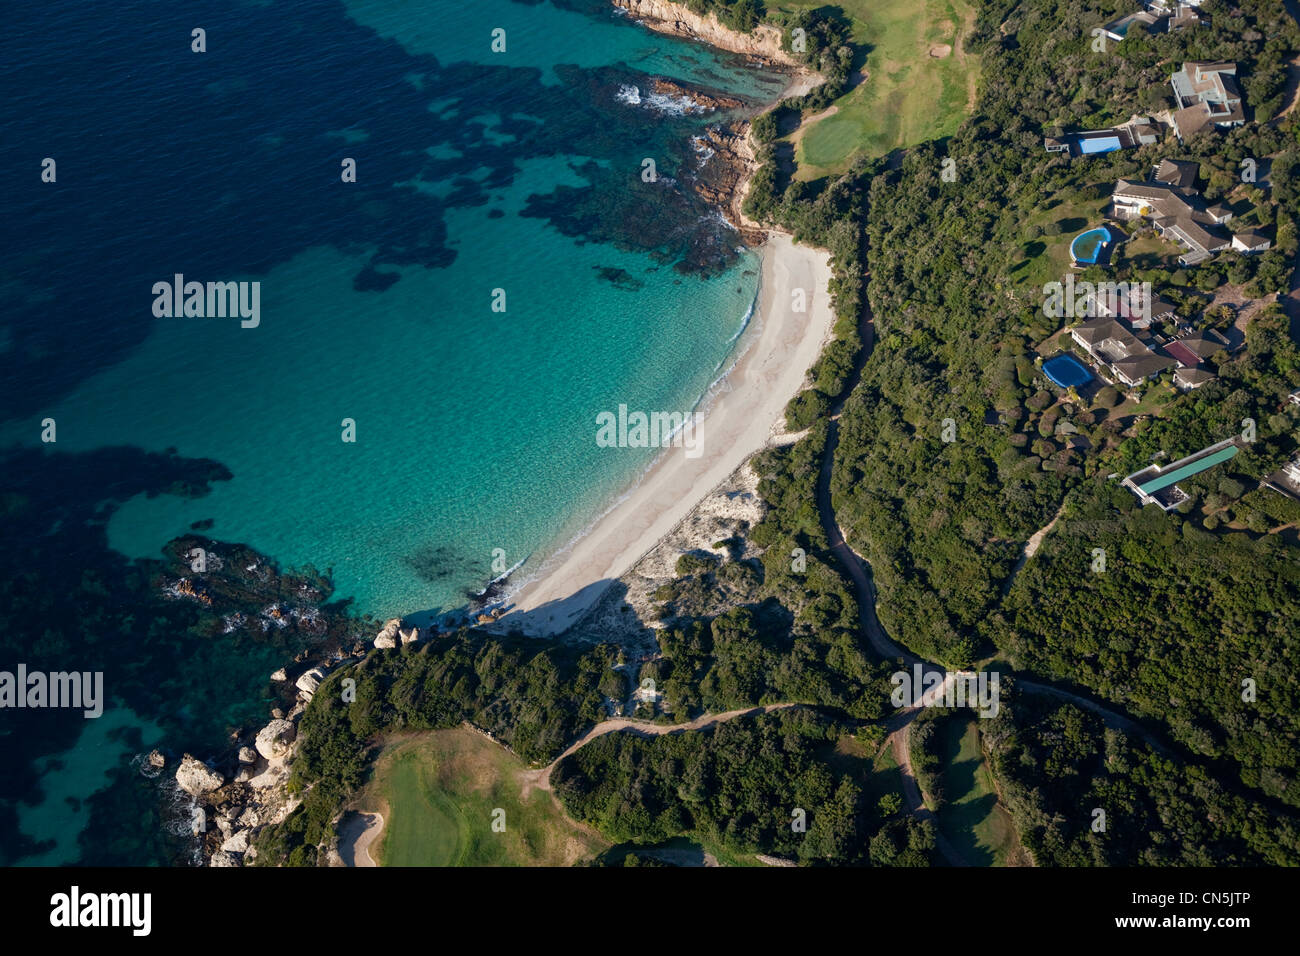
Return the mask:
[[(1234, 159), (1248, 151), (1262, 156), (1296, 150), (1294, 130), (1283, 137), (1247, 126), (1226, 138), (1197, 138), (1186, 151), (1147, 147), (1075, 161), (1045, 153), (1043, 126), (1060, 109), (1058, 90), (1082, 86), (1098, 103), (1126, 101), (1139, 87), (1165, 85), (1169, 70), (1166, 64), (1147, 75), (1126, 69), (1122, 59), (1088, 52), (1083, 25), (1089, 17), (1082, 5), (1056, 5), (1078, 7), (1076, 17), (1044, 7), (1053, 5), (1015, 5), (1014, 47), (1001, 30), (996, 31), (1001, 40), (991, 35), (1008, 10), (993, 17), (985, 9), (979, 33), (989, 44), (991, 78), (979, 116), (945, 150), (911, 151), (898, 169), (870, 181), (868, 293), (880, 346), (841, 421), (836, 507), (850, 540), (861, 541), (871, 559), (889, 630), (918, 652), (957, 665), (996, 646), (998, 635), (988, 622), (1020, 544), (1048, 523), (1088, 464), (1083, 453), (1044, 437), (1034, 416), (1039, 395), (1032, 365), (1020, 363), (1030, 342), (1054, 325), (1040, 310), (1041, 289), (1018, 287), (1014, 280), (1014, 264), (1024, 250), (1022, 224), (1043, 206), (1097, 195), (1098, 186), (1109, 191), (1123, 174), (1141, 176), (1165, 155), (1235, 168)], [(1256, 8), (1270, 22), (1270, 33), (1283, 33), (1279, 14), (1268, 4)], [(1286, 49), (1240, 40), (1249, 33), (1248, 22), (1222, 20), (1222, 27), (1217, 20), (1213, 30), (1164, 38), (1171, 60), (1193, 52), (1186, 48), (1193, 36), (1205, 47), (1199, 55), (1235, 55), (1244, 72)], [(1062, 34), (1076, 34), (1078, 49), (1062, 44)], [(1291, 23), (1288, 35), (1294, 34)], [(1216, 43), (1217, 36), (1223, 39)], [(958, 170), (950, 183), (940, 177), (941, 161), (949, 157)], [(1280, 286), (1295, 239), (1288, 220), (1278, 232), (1284, 251), (1257, 259), (1221, 256), (1225, 268), (1270, 271), (1269, 284)], [(1196, 272), (1219, 268), (1216, 261)], [(1193, 429), (1167, 429), (1179, 431), (1179, 444), (1197, 447), (1202, 436), (1235, 433), (1251, 411), (1265, 442), (1275, 447), (1291, 442), (1274, 431), (1284, 423), (1270, 418), (1290, 390), (1292, 350), (1269, 347), (1278, 345), (1275, 334), (1261, 336), (1258, 329), (1256, 334), (1269, 341), (1221, 369), (1218, 384), (1171, 402), (1171, 421), (1199, 423)], [(1287, 354), (1279, 362), (1280, 352)], [(1208, 406), (1219, 412), (1197, 415)], [(942, 441), (945, 420), (956, 428), (956, 441)], [(1167, 434), (1150, 423), (1121, 424), (1136, 441), (1122, 449), (1118, 460), (1093, 459), (1091, 468), (1109, 473), (1140, 460)], [(1096, 437), (1104, 438), (1108, 429), (1100, 419), (1095, 427), (1101, 429)]]

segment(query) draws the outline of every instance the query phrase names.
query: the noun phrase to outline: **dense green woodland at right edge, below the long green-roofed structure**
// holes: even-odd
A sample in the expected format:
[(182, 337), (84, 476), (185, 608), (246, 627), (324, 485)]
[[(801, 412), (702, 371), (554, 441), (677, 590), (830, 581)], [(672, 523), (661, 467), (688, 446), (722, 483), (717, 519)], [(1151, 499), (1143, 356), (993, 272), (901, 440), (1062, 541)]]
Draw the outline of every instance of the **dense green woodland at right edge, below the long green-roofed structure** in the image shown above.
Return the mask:
[[(1273, 492), (1268, 494), (1277, 497)], [(1082, 497), (1017, 579), (997, 624), (1019, 666), (1162, 722), (1192, 753), (1300, 805), (1300, 567), (1275, 536), (1213, 535), (1126, 490)], [(1091, 571), (1104, 549), (1104, 572)], [(1243, 700), (1243, 682), (1256, 696)]]

